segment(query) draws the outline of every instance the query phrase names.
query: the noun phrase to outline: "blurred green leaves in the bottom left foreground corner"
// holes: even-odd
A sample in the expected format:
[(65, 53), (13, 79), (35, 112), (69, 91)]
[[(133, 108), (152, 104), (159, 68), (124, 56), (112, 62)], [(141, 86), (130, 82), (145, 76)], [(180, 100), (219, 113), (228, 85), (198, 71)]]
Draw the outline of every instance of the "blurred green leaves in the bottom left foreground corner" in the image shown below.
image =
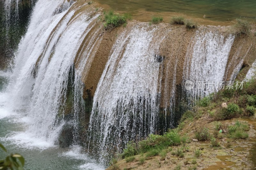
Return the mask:
[[(0, 148), (7, 153), (7, 150), (2, 144), (0, 144)], [(4, 160), (0, 160), (0, 169), (23, 170), (24, 164), (25, 159), (20, 154), (10, 154)]]

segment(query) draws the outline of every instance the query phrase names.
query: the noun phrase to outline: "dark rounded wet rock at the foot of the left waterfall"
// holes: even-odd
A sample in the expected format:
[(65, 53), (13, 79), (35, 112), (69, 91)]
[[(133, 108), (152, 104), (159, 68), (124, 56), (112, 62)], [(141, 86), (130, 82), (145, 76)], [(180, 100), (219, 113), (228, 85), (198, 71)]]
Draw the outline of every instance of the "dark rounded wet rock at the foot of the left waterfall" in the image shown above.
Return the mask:
[(73, 139), (74, 139), (73, 130), (74, 130), (74, 126), (64, 125), (60, 133), (60, 136), (58, 138), (59, 146), (61, 148), (66, 148), (73, 144)]

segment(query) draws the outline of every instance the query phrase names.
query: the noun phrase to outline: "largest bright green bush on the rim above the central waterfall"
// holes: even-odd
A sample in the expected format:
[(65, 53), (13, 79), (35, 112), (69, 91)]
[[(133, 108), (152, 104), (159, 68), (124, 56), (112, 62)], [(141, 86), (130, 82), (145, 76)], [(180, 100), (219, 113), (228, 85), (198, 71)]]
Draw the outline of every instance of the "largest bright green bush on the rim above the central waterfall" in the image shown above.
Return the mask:
[(128, 16), (120, 15), (118, 13), (114, 13), (113, 10), (109, 10), (108, 12), (104, 11), (104, 28), (105, 29), (113, 29), (116, 26), (121, 26), (126, 23)]

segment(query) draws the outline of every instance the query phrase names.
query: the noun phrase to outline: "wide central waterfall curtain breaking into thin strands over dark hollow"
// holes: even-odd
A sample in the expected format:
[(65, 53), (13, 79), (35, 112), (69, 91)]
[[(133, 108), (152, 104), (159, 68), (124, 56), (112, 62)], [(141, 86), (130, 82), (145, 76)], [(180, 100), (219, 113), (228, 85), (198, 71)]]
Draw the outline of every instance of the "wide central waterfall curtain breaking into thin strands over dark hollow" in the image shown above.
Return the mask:
[(164, 37), (153, 38), (155, 31), (138, 25), (118, 35), (98, 83), (89, 149), (100, 155), (103, 163), (110, 152), (120, 151), (129, 140), (156, 130), (162, 61), (158, 60), (158, 48)]

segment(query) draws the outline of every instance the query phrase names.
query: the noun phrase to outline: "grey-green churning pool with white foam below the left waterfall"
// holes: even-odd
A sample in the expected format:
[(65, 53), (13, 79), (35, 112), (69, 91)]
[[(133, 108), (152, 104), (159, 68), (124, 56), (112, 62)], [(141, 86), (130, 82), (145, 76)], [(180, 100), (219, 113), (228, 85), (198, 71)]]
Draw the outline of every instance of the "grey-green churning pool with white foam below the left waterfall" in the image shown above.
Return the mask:
[[(23, 110), (8, 107), (10, 73), (0, 70), (0, 143), (9, 153), (20, 153), (25, 158), (26, 170), (102, 170), (104, 167), (90, 159), (80, 146), (60, 148), (26, 132), (29, 117)], [(0, 159), (5, 152), (0, 150)]]

